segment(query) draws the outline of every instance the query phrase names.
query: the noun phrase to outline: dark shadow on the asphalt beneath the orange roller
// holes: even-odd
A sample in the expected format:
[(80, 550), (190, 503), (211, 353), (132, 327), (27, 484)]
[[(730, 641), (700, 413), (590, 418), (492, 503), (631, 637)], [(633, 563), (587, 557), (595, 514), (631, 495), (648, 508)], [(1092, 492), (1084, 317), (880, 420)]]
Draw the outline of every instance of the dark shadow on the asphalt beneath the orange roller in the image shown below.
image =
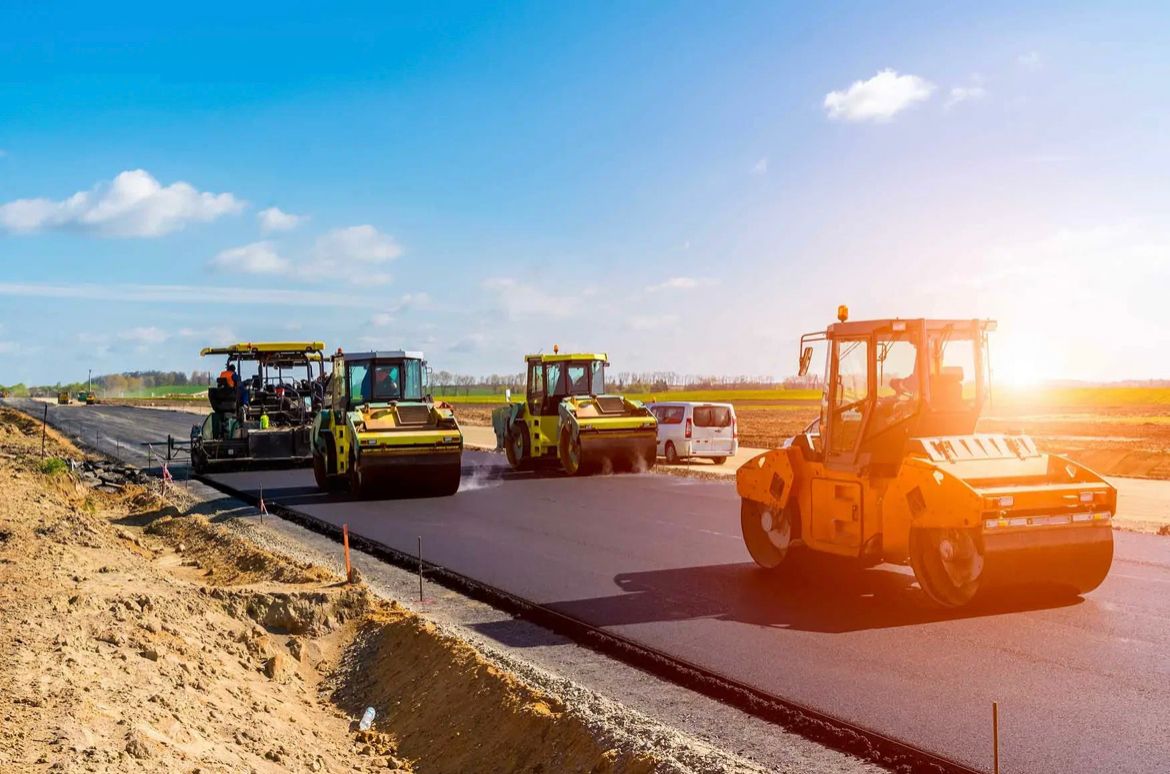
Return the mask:
[(772, 574), (751, 562), (614, 576), (621, 593), (546, 607), (597, 627), (715, 618), (752, 626), (842, 634), (1080, 604), (1067, 593), (1006, 590), (959, 610), (925, 600), (913, 574), (889, 568), (823, 567)]

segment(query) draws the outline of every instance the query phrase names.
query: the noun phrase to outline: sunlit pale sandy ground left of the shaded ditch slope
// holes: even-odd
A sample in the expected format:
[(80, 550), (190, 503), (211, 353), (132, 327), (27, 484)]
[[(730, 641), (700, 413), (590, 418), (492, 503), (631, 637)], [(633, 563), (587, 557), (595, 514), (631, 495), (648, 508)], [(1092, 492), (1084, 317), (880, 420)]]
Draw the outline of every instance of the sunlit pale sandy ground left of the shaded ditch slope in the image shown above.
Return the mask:
[[(200, 568), (142, 534), (140, 489), (42, 472), (25, 430), (0, 415), (0, 769), (408, 768), (392, 739), (362, 754), (369, 742), (317, 687), (328, 656), (297, 658), (291, 634), (216, 599)], [(80, 456), (55, 435), (49, 455)], [(317, 581), (249, 593), (345, 604)], [(344, 614), (328, 617), (322, 652), (349, 636)]]

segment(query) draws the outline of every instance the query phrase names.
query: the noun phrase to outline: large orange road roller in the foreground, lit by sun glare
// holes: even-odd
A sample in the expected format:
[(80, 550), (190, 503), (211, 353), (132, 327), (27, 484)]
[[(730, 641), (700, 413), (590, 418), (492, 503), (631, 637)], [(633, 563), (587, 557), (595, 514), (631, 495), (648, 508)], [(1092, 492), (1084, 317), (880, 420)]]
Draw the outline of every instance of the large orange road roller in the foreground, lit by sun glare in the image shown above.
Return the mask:
[(976, 433), (993, 320), (839, 322), (820, 416), (736, 472), (744, 543), (775, 569), (804, 551), (907, 564), (925, 595), (962, 607), (996, 588), (1096, 588), (1113, 564), (1117, 492), (1024, 435)]

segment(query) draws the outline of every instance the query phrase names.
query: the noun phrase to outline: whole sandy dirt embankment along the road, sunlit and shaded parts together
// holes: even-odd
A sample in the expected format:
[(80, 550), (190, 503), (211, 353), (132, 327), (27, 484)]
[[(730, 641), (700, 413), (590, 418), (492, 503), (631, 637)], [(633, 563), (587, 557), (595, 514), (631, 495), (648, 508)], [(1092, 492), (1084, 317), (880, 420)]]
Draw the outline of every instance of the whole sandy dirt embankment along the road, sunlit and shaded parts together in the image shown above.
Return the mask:
[(365, 587), (39, 450), (0, 410), (0, 769), (659, 767)]

